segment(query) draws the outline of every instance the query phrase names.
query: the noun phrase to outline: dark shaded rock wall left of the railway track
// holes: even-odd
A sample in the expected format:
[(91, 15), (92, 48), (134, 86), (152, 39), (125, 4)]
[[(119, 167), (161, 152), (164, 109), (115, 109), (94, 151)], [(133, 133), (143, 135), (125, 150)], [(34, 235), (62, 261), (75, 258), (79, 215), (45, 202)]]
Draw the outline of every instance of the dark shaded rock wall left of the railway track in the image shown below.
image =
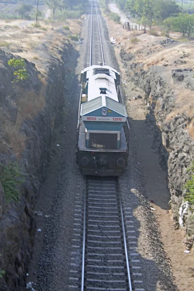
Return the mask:
[[(46, 174), (50, 145), (63, 112), (65, 102), (63, 61), (68, 58), (71, 49), (69, 43), (64, 43), (61, 58), (55, 57), (50, 60), (44, 80), (35, 65), (25, 60), (29, 79), (19, 84), (19, 91), (16, 91), (18, 84), (12, 83), (13, 68), (7, 65), (7, 61), (14, 56), (0, 50), (0, 162), (7, 164), (10, 161), (18, 161), (22, 171), (28, 174), (26, 182), (20, 189), (19, 203), (6, 203), (0, 183), (0, 270), (6, 272), (0, 279), (1, 291), (21, 291), (25, 288), (35, 232), (35, 221), (32, 218), (34, 198), (39, 191), (40, 181)], [(41, 93), (43, 88), (44, 92)], [(44, 105), (35, 116), (27, 112), (30, 114), (27, 117), (30, 117), (25, 118), (23, 113), (20, 113), (19, 110), (26, 106), (22, 105), (20, 109), (17, 106), (20, 102), (19, 92), (26, 96), (32, 92), (33, 96), (44, 95)], [(37, 100), (34, 99), (35, 101)], [(18, 116), (23, 116), (18, 133), (25, 141), (19, 155), (14, 151), (16, 146), (10, 146), (2, 132), (8, 120), (14, 127), (18, 122)]]

